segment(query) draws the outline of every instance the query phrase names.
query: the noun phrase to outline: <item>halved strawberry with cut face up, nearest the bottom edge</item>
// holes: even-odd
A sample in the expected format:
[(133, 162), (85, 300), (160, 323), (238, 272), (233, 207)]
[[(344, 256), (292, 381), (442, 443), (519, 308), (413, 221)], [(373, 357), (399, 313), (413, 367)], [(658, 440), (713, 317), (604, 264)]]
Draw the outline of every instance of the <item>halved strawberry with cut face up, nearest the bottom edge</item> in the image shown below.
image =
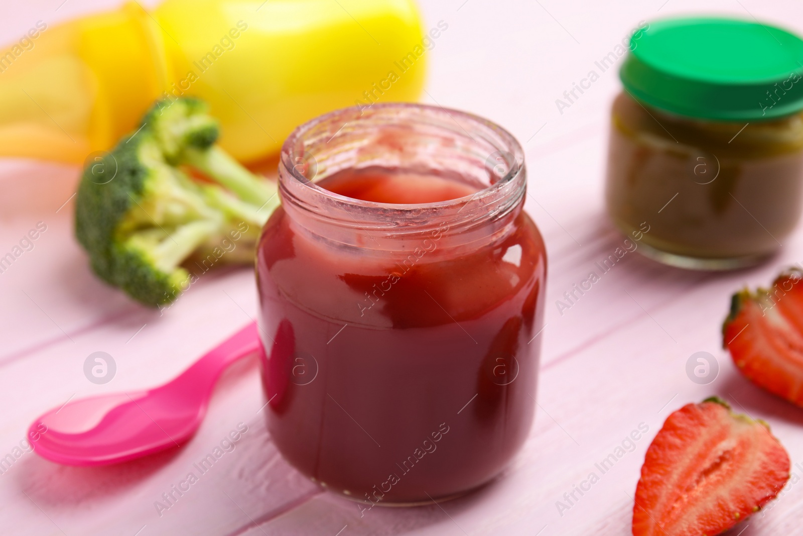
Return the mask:
[(633, 534), (719, 534), (775, 498), (787, 480), (789, 455), (766, 423), (716, 398), (687, 404), (647, 449)]

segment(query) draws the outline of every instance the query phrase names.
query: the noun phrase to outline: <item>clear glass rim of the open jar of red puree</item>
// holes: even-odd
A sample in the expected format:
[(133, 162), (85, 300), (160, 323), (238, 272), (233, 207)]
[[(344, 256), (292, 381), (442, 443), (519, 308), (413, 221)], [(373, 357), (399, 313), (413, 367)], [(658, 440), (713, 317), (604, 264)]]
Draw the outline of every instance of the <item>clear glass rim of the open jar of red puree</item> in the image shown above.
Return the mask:
[[(300, 151), (304, 150), (303, 143), (305, 137), (307, 137), (308, 134), (314, 131), (316, 128), (319, 128), (320, 125), (331, 122), (333, 119), (338, 117), (341, 119), (348, 118), (349, 121), (359, 121), (361, 118), (366, 117), (366, 115), (377, 115), (393, 111), (407, 113), (409, 117), (414, 119), (416, 117), (415, 114), (417, 113), (419, 118), (424, 118), (427, 115), (438, 117), (442, 120), (448, 118), (452, 124), (459, 127), (463, 133), (467, 134), (467, 136), (471, 137), (472, 139), (474, 139), (474, 135), (472, 135), (470, 130), (473, 131), (475, 135), (482, 136), (484, 140), (489, 143), (491, 140), (495, 140), (499, 146), (496, 152), (500, 153), (500, 158), (504, 158), (505, 163), (507, 164), (507, 172), (501, 177), (497, 175), (496, 180), (491, 180), (491, 184), (482, 190), (478, 190), (474, 194), (459, 198), (447, 199), (446, 201), (434, 203), (378, 203), (351, 198), (345, 195), (336, 194), (330, 190), (326, 190), (325, 188), (318, 186), (316, 182), (312, 180), (314, 176), (312, 178), (307, 178), (304, 173), (296, 169), (298, 166), (296, 166), (293, 162), (294, 156), (297, 157)], [(465, 125), (461, 125), (458, 119), (463, 121)], [(348, 124), (349, 121), (344, 121), (343, 127)], [(340, 127), (340, 129), (343, 127)], [(334, 133), (331, 139), (337, 137), (339, 133), (340, 130)], [(331, 139), (329, 141), (331, 141)], [(489, 158), (491, 158), (493, 154), (494, 153), (489, 153)], [(314, 153), (312, 153), (313, 158), (314, 156)], [(462, 208), (471, 201), (498, 196), (503, 190), (506, 190), (506, 187), (509, 189), (509, 186), (511, 185), (520, 186), (523, 188), (525, 186), (524, 183), (526, 182), (526, 172), (524, 169), (524, 149), (522, 149), (519, 141), (516, 140), (516, 137), (514, 137), (506, 129), (503, 129), (494, 122), (488, 121), (487, 119), (472, 113), (462, 112), (452, 108), (443, 108), (442, 106), (433, 106), (430, 104), (403, 102), (377, 103), (366, 107), (352, 106), (349, 108), (340, 108), (299, 125), (290, 133), (282, 145), (279, 158), (279, 171), (279, 182), (283, 183), (284, 186), (288, 186), (287, 181), (283, 181), (283, 178), (287, 178), (292, 182), (295, 182), (296, 185), (301, 185), (305, 190), (307, 190), (308, 194), (311, 194), (316, 198), (327, 198), (331, 202), (334, 202), (341, 207), (351, 206), (359, 208), (364, 213), (365, 211), (369, 211), (381, 213), (382, 215), (397, 213), (421, 216), (425, 213), (434, 214), (442, 211), (448, 211), (449, 209), (455, 207), (462, 210)], [(518, 189), (519, 188), (516, 188), (516, 190)]]

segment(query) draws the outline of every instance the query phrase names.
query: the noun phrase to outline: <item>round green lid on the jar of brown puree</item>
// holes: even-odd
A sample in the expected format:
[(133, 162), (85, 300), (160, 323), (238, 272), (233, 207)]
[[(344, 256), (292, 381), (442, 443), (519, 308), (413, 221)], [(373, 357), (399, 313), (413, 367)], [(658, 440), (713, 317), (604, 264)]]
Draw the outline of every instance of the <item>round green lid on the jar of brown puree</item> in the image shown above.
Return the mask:
[(630, 38), (627, 92), (667, 112), (755, 121), (803, 110), (803, 39), (729, 18), (672, 18)]

